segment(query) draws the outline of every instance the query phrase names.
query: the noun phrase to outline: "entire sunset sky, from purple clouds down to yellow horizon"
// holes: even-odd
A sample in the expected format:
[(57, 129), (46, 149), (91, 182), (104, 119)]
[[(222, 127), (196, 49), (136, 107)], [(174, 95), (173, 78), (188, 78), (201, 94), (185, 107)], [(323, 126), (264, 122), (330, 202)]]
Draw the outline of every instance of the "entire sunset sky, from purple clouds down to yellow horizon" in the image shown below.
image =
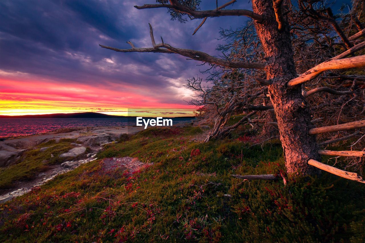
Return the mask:
[[(237, 28), (247, 18), (171, 21), (167, 9), (134, 5), (154, 0), (0, 2), (0, 115), (101, 112), (126, 115), (128, 109), (188, 116), (185, 80), (201, 76), (201, 63), (175, 54), (117, 53), (99, 44), (151, 47), (149, 26), (158, 42), (219, 55), (219, 27)], [(225, 1), (218, 0), (221, 5)], [(203, 0), (201, 9), (215, 8)], [(250, 9), (248, 1), (229, 8)], [(228, 8), (227, 8), (228, 9)], [(152, 109), (154, 108), (154, 109)]]

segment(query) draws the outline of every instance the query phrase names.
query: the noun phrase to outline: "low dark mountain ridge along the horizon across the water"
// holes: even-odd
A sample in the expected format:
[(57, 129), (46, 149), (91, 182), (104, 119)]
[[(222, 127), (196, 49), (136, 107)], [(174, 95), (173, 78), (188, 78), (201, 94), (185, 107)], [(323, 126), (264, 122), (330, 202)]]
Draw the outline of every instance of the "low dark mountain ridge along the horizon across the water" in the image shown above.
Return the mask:
[[(127, 118), (136, 116), (115, 116), (107, 115), (97, 112), (78, 112), (78, 113), (55, 113), (55, 114), (44, 114), (44, 115), (22, 115), (22, 116), (5, 116), (0, 115), (0, 118)], [(183, 117), (194, 117), (194, 116), (183, 116)], [(173, 118), (173, 117), (171, 117)]]

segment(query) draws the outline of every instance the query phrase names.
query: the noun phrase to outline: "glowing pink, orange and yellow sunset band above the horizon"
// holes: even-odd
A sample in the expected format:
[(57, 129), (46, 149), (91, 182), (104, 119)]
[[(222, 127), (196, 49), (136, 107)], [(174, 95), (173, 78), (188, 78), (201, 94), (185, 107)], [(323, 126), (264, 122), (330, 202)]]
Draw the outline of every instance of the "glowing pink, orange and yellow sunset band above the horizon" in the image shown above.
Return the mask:
[[(26, 76), (8, 74), (0, 78), (0, 115), (100, 112), (121, 116), (193, 116), (191, 105), (161, 103), (145, 95), (148, 90), (141, 92), (138, 87), (115, 87), (105, 82), (92, 86)], [(182, 99), (189, 95), (182, 89)]]

